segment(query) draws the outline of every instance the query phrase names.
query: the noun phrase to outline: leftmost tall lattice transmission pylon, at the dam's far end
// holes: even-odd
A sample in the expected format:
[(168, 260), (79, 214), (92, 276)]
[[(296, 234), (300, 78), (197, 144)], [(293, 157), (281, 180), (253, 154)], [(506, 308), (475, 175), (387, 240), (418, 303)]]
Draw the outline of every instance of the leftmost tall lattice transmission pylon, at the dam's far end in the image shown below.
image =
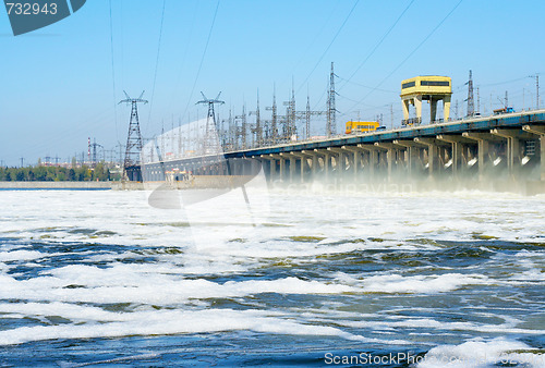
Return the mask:
[(119, 101), (119, 103), (131, 103), (131, 120), (129, 122), (129, 134), (126, 136), (125, 161), (123, 164), (123, 179), (131, 181), (141, 181), (142, 171), (140, 167), (140, 155), (142, 152), (142, 134), (140, 132), (138, 122), (138, 103), (147, 103), (147, 100), (142, 99), (144, 90), (138, 98), (131, 98), (123, 90), (126, 99)]

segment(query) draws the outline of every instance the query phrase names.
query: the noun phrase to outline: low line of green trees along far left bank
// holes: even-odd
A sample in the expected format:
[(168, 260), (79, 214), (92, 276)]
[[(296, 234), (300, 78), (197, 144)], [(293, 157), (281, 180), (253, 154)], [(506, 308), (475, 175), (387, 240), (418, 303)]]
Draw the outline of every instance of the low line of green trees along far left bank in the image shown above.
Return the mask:
[(80, 168), (62, 167), (26, 167), (1, 168), (0, 181), (2, 182), (89, 182), (119, 180), (119, 174), (112, 174), (101, 162), (93, 169), (87, 165)]

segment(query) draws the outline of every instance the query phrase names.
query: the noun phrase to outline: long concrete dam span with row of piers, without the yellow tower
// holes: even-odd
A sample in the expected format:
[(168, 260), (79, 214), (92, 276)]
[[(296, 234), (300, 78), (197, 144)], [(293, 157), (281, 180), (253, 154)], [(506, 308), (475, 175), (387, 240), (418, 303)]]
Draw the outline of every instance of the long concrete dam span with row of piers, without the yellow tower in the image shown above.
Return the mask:
[[(160, 156), (159, 156), (160, 157)], [(222, 155), (144, 162), (144, 182), (169, 172), (251, 175), (267, 181), (396, 181), (411, 177), (545, 182), (545, 109), (476, 116), (389, 131), (338, 135)]]

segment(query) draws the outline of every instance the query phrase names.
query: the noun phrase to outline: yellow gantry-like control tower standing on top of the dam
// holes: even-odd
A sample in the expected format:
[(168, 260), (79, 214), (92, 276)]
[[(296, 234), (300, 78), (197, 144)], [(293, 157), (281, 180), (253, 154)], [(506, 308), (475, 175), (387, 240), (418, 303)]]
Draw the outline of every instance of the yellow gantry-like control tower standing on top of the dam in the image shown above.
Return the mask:
[[(403, 105), (403, 124), (413, 125), (422, 122), (422, 101), (429, 101), (431, 121), (437, 114), (437, 101), (443, 100), (443, 119), (448, 121), (452, 81), (448, 76), (424, 75), (401, 82), (401, 101)], [(416, 109), (416, 119), (409, 119), (409, 105)]]

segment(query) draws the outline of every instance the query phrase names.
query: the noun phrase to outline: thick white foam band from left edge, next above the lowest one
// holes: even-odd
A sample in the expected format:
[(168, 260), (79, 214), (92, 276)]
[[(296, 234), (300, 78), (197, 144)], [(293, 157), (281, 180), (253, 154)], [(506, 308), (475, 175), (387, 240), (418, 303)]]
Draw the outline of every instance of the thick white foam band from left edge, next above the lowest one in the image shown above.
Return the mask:
[[(0, 298), (177, 305), (190, 299), (242, 297), (261, 293), (342, 294), (359, 291), (352, 286), (298, 278), (228, 281), (220, 284), (203, 279), (185, 280), (174, 274), (146, 271), (138, 273), (132, 270), (130, 265), (110, 269), (69, 266), (51, 273), (53, 275), (28, 280), (15, 280), (10, 275), (0, 274)], [(75, 287), (66, 287), (74, 285)]]

